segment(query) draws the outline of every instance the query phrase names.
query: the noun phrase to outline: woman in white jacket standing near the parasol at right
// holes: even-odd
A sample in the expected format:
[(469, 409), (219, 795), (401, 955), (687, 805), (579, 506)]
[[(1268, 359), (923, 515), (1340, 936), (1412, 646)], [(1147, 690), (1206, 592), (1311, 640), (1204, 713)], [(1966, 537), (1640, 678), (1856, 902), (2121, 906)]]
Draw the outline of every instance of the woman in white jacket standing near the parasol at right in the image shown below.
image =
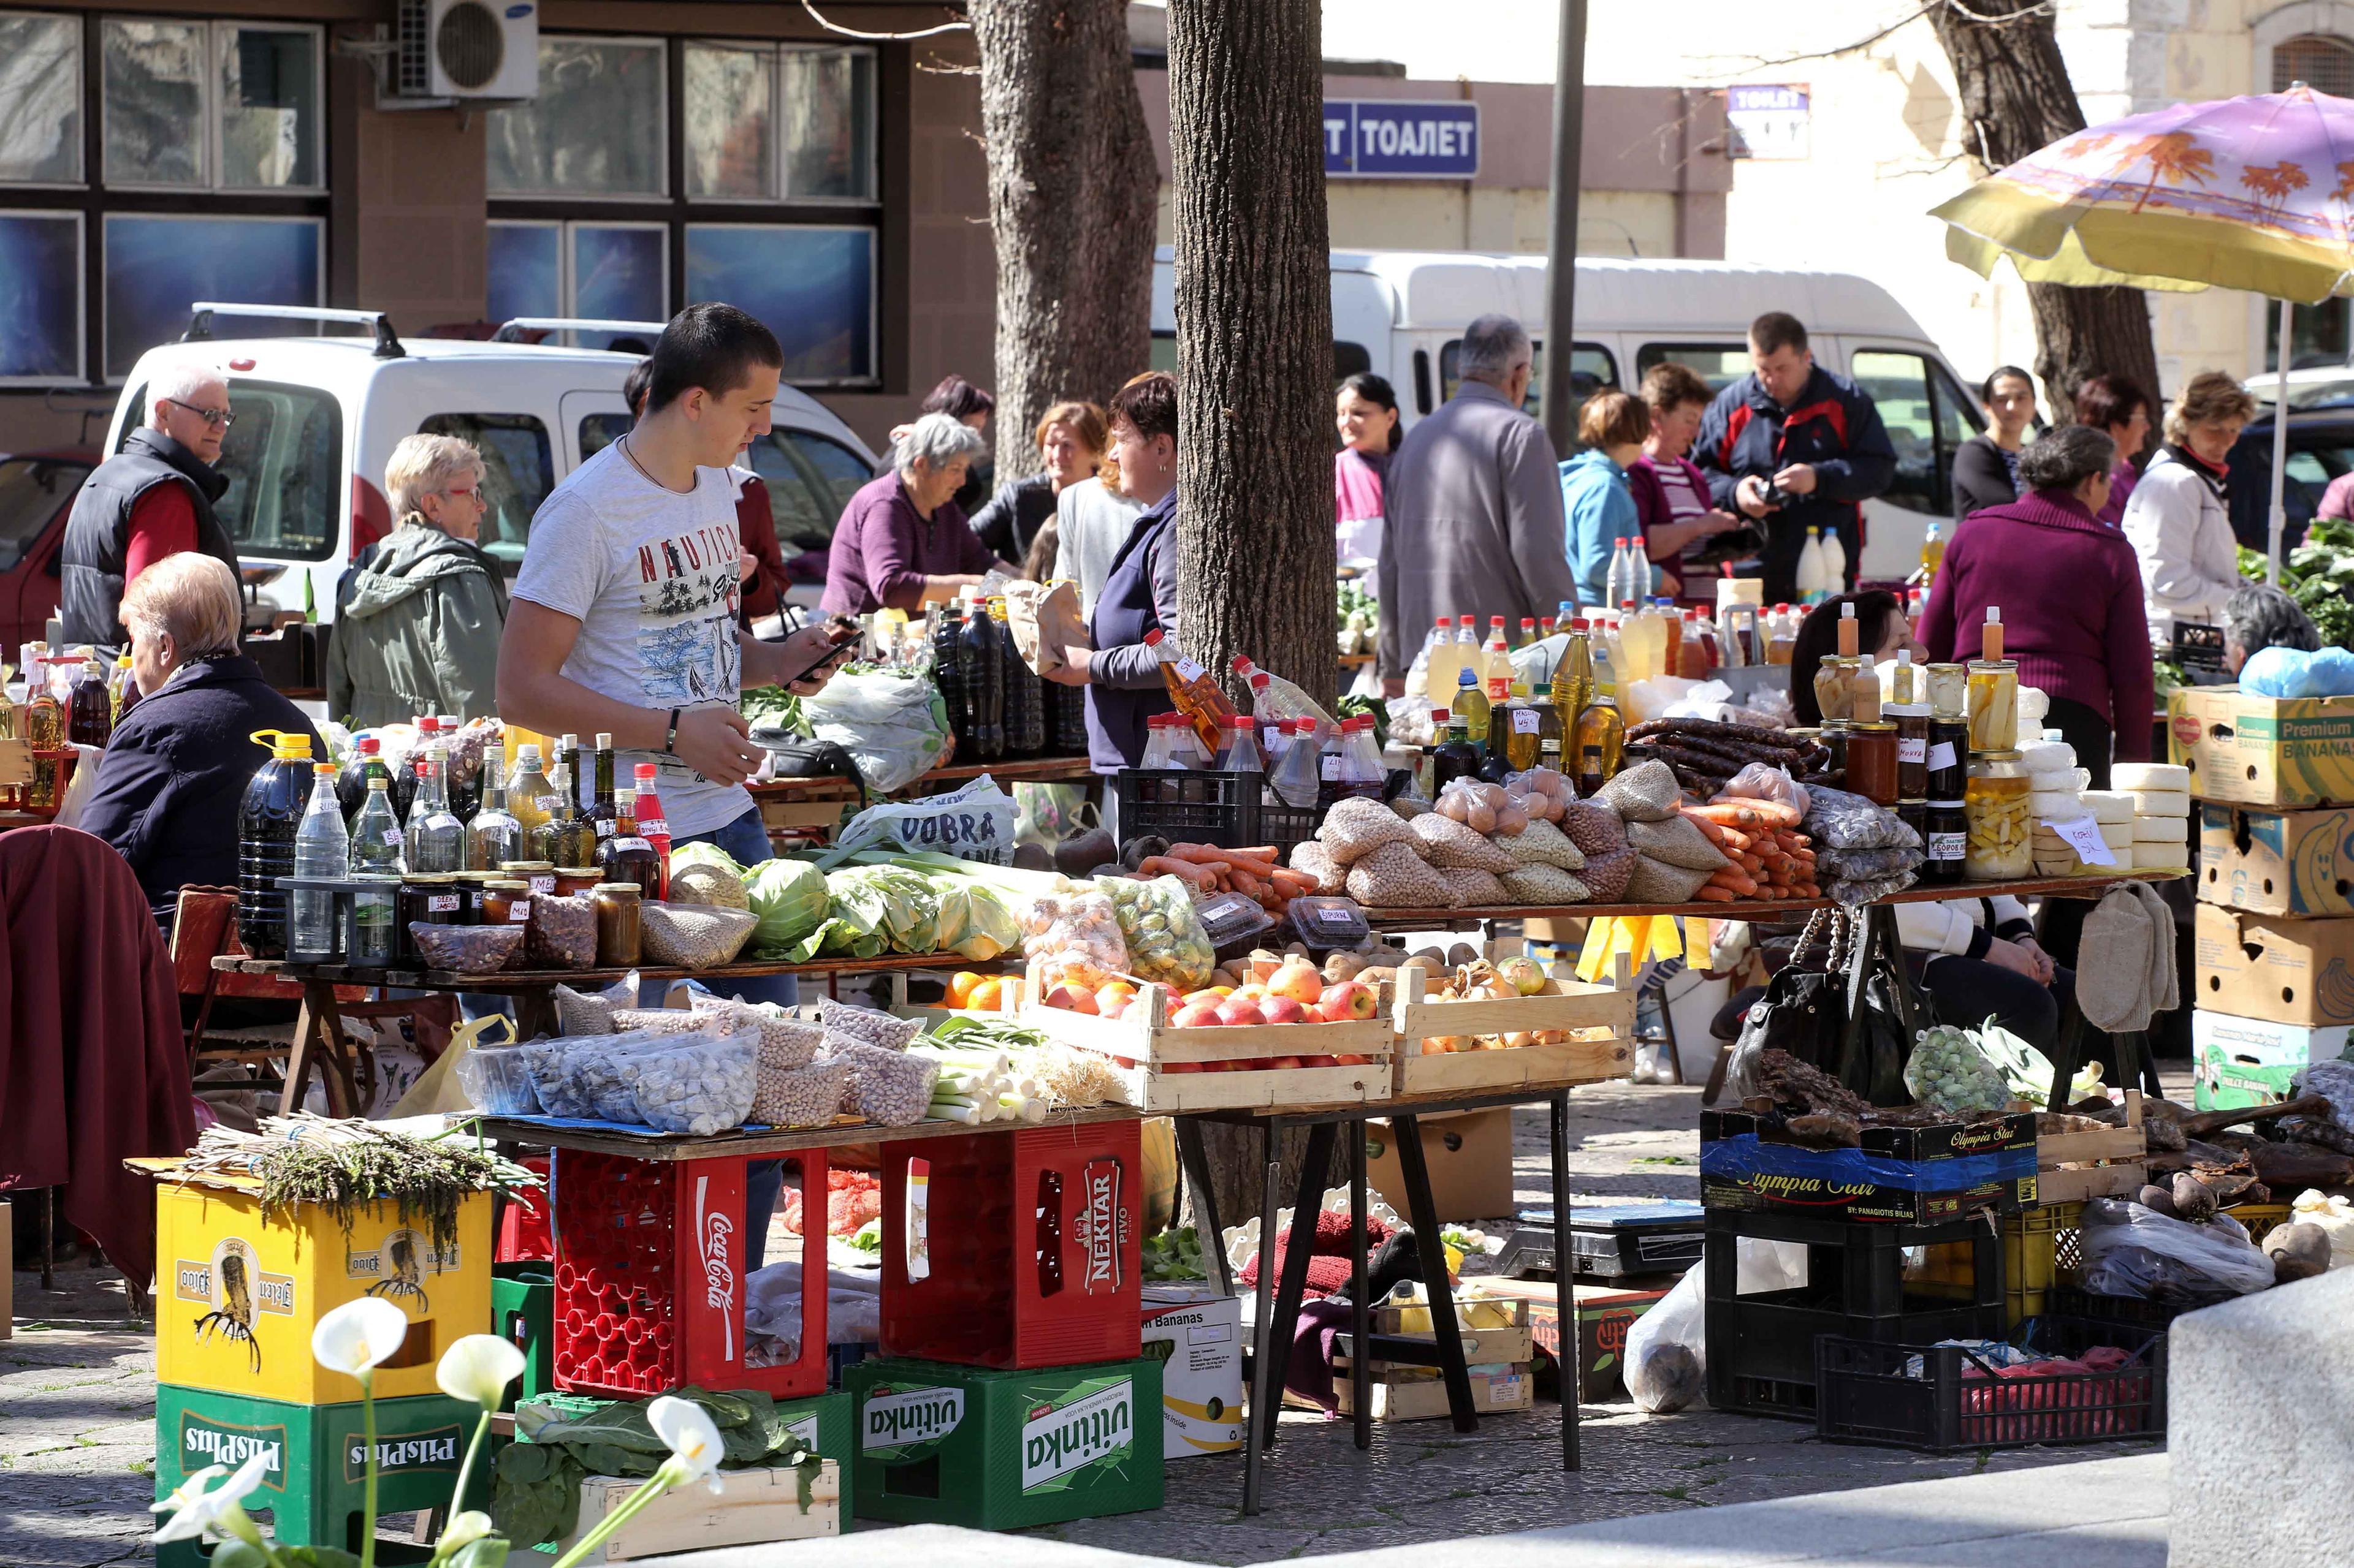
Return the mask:
[(2166, 410), (2166, 445), (2121, 520), (2142, 565), (2152, 638), (2170, 640), (2175, 622), (2220, 626), (2239, 591), (2239, 539), (2222, 480), (2232, 443), (2253, 417), (2255, 398), (2220, 370), (2192, 377)]

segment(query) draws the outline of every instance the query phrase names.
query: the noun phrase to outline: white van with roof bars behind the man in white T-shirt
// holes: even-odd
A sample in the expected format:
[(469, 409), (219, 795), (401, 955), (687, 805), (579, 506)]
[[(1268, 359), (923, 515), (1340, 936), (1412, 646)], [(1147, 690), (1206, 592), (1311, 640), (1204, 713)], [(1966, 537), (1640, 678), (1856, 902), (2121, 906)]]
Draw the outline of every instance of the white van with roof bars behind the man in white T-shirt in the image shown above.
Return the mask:
[[(245, 337), (165, 344), (139, 356), (122, 384), (106, 450), (120, 452), (146, 421), (158, 365), (198, 360), (228, 381), (235, 424), (221, 443), (228, 490), (214, 516), (268, 610), (334, 619), (334, 584), (370, 539), (393, 525), (384, 464), (403, 436), (459, 436), (483, 452), (480, 544), (513, 572), (532, 513), (556, 485), (629, 428), (621, 381), (640, 353), (520, 341), (395, 339), (372, 311), (198, 306), (210, 315), (268, 315), (358, 325), (372, 337)], [(661, 323), (508, 323), (501, 332), (629, 332), (643, 344)], [(873, 457), (847, 424), (807, 393), (779, 388), (774, 428), (753, 443), (786, 563), (824, 551), (850, 494), (873, 478)], [(793, 603), (817, 603), (817, 589)]]

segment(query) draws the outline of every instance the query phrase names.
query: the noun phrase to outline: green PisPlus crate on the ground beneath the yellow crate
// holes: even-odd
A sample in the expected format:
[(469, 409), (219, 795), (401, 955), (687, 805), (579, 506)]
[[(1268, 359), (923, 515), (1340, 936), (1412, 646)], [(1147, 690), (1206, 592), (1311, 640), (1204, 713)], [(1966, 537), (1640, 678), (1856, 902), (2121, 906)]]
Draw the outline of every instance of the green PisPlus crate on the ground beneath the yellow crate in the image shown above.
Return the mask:
[[(457, 1469), (480, 1408), (440, 1394), (377, 1401), (377, 1516), (417, 1509), (450, 1509)], [(162, 1384), (155, 1389), (155, 1495), (169, 1497), (181, 1481), (207, 1464), (238, 1469), (268, 1453), (261, 1488), (245, 1500), (247, 1514), (271, 1511), (268, 1533), (290, 1544), (360, 1549), (367, 1439), (360, 1401), (341, 1406), (290, 1406), (212, 1389)], [(490, 1507), (490, 1455), (476, 1462), (466, 1507)], [(379, 1544), (377, 1561), (424, 1561)], [(212, 1554), (193, 1540), (155, 1547), (155, 1568), (193, 1568)]]

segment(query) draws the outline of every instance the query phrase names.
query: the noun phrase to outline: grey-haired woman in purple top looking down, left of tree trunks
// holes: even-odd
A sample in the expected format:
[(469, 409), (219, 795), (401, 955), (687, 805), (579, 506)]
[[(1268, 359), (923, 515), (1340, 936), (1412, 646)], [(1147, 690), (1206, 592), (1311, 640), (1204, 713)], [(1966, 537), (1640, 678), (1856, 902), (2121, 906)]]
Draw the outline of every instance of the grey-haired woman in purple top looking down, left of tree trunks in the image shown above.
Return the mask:
[(920, 612), (977, 586), (991, 567), (1019, 567), (989, 553), (963, 509), (949, 499), (984, 452), (979, 431), (949, 414), (925, 414), (892, 447), (892, 471), (864, 485), (833, 527), (826, 560), (829, 614)]

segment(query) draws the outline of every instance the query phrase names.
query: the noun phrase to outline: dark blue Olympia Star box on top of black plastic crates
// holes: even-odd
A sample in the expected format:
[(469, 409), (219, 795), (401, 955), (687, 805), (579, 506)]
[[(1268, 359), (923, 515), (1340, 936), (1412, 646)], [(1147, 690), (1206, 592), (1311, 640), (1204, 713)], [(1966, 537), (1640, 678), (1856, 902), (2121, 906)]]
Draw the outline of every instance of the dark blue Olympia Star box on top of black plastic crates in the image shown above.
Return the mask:
[(1860, 1149), (1808, 1149), (1749, 1111), (1702, 1111), (1700, 1203), (1883, 1224), (2008, 1215), (2036, 1203), (2036, 1118), (1864, 1128)]

